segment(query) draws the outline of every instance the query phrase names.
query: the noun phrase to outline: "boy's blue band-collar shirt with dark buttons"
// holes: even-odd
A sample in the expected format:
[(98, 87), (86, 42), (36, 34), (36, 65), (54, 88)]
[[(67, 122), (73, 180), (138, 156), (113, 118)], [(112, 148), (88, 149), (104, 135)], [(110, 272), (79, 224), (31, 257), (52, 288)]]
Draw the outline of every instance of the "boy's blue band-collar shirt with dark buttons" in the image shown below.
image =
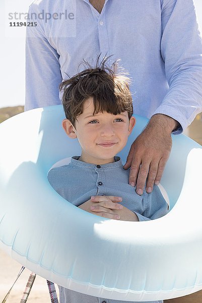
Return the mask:
[[(122, 197), (121, 204), (136, 213), (139, 221), (154, 220), (167, 214), (168, 205), (159, 187), (154, 185), (151, 193), (144, 190), (143, 195), (138, 195), (136, 188), (128, 184), (129, 169), (123, 169), (119, 157), (114, 157), (115, 162), (103, 165), (78, 159), (79, 156), (72, 157), (69, 165), (53, 168), (48, 173), (48, 181), (52, 187), (73, 205), (80, 206), (92, 195), (112, 195)], [(81, 294), (61, 286), (59, 290), (61, 302), (119, 302)]]

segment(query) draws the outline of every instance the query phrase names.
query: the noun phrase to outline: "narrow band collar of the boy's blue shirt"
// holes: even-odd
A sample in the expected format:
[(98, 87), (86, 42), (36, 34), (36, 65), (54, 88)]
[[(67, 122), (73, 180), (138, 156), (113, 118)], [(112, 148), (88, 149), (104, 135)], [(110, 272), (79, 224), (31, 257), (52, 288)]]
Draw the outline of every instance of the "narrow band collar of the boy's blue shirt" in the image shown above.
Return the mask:
[(78, 160), (80, 158), (80, 156), (74, 156), (71, 158), (71, 164), (80, 168), (84, 168), (84, 169), (102, 169), (102, 170), (107, 170), (107, 169), (111, 169), (111, 168), (118, 168), (118, 167), (122, 167), (122, 162), (120, 157), (114, 157), (114, 161), (112, 163), (106, 163), (106, 164), (101, 164), (99, 165), (99, 167), (97, 167), (97, 164), (92, 164), (92, 163), (87, 163), (87, 162), (83, 162)]

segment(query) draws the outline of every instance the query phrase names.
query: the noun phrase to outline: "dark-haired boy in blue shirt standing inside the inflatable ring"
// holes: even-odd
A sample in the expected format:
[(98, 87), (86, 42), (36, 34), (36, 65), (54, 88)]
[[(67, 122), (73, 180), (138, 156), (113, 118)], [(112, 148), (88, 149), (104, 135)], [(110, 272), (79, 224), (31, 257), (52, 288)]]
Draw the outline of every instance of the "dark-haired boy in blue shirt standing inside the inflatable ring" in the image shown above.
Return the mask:
[[(89, 66), (60, 84), (66, 116), (62, 126), (69, 137), (78, 139), (82, 154), (72, 157), (69, 165), (51, 169), (48, 180), (62, 197), (89, 213), (125, 221), (157, 219), (167, 214), (158, 186), (152, 193), (144, 190), (138, 195), (128, 184), (129, 170), (115, 157), (136, 119), (132, 117), (129, 78), (117, 74), (115, 64), (106, 67), (107, 59), (99, 66), (98, 58), (95, 68)], [(61, 286), (59, 293), (62, 303), (118, 302)]]

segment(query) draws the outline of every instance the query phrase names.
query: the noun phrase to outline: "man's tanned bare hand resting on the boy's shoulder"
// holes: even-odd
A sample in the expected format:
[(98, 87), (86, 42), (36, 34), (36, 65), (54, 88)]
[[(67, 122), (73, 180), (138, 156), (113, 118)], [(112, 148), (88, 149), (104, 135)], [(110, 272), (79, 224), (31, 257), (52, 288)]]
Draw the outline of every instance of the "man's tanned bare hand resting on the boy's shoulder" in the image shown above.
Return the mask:
[[(172, 148), (171, 132), (179, 123), (162, 114), (152, 116), (145, 130), (132, 143), (124, 169), (130, 168), (129, 184), (138, 194), (153, 190), (159, 184)], [(147, 178), (148, 177), (148, 178)]]

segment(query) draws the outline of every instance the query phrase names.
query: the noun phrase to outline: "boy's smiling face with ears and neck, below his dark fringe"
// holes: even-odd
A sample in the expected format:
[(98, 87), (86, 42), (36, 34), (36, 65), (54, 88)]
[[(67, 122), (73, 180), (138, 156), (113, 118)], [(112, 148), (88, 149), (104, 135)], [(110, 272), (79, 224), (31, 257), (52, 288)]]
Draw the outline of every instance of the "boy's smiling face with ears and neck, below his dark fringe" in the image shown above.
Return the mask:
[(75, 127), (64, 119), (62, 126), (71, 138), (77, 138), (82, 155), (80, 161), (92, 164), (114, 162), (114, 156), (126, 145), (136, 119), (128, 119), (128, 113), (112, 115), (107, 112), (93, 116), (93, 98), (84, 103), (83, 113), (77, 117)]

